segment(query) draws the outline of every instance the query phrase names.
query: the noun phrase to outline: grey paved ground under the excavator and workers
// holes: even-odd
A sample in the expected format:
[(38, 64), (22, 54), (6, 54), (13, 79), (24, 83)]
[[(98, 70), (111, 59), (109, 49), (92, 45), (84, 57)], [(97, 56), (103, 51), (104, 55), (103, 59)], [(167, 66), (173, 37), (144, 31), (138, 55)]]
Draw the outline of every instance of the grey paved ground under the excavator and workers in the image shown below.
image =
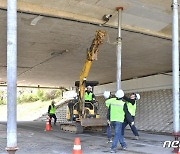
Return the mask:
[[(17, 154), (71, 154), (75, 137), (80, 137), (83, 154), (110, 153), (110, 144), (106, 143), (104, 133), (85, 132), (71, 134), (59, 131), (53, 127), (52, 131), (45, 132), (43, 122), (18, 123)], [(165, 140), (173, 140), (171, 136), (140, 132), (140, 140), (133, 140), (132, 133), (126, 131), (128, 149), (122, 151), (118, 144), (117, 153), (122, 154), (170, 154), (172, 149), (162, 148)], [(6, 154), (6, 123), (0, 122), (0, 154)]]

